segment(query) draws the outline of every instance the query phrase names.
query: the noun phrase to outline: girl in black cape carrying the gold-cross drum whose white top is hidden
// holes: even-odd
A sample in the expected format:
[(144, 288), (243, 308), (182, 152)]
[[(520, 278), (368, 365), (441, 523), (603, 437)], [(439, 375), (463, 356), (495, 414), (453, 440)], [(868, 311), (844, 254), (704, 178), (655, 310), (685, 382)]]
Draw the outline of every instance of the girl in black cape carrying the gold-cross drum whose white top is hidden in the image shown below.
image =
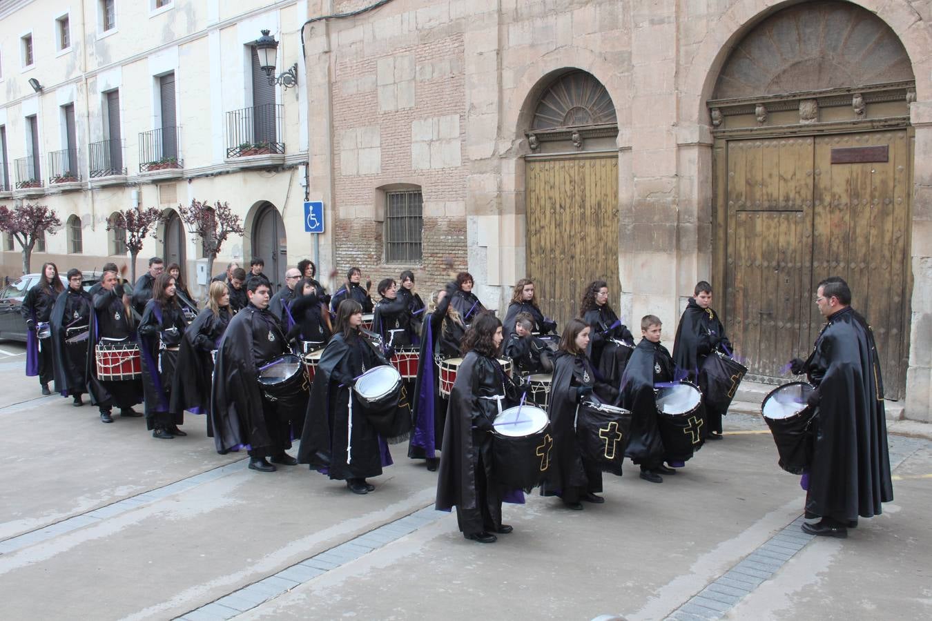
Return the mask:
[(577, 511), (583, 509), (583, 500), (605, 502), (596, 495), (602, 491), (602, 469), (583, 457), (575, 427), (579, 404), (591, 398), (596, 388), (596, 370), (585, 355), (591, 331), (582, 319), (573, 318), (560, 338), (547, 411), (554, 448), (541, 483), (541, 495), (559, 496), (566, 506)]

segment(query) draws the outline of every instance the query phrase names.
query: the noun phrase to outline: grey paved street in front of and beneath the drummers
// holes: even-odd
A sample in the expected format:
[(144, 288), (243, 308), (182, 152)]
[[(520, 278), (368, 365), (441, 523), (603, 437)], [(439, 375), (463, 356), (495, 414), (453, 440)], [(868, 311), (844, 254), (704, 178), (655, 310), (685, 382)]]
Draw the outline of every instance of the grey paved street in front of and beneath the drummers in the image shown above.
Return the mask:
[(896, 499), (847, 540), (791, 524), (799, 479), (761, 420), (733, 413), (664, 484), (626, 465), (602, 506), (530, 496), (484, 546), (422, 510), (434, 475), (404, 446), (365, 496), (304, 466), (256, 473), (213, 451), (202, 418), (171, 441), (142, 419), (102, 425), (41, 397), (20, 344), (0, 350), (5, 619), (932, 616), (926, 439), (891, 437)]

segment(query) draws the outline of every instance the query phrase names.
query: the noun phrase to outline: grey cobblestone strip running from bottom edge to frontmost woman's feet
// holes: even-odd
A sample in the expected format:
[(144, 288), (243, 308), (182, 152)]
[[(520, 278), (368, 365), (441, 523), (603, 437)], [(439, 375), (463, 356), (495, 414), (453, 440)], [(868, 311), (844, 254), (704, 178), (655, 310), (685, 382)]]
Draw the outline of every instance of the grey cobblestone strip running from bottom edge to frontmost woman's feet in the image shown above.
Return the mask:
[(255, 608), (264, 601), (276, 598), (298, 585), (313, 580), (321, 574), (336, 569), (350, 560), (359, 559), (363, 555), (400, 539), (405, 534), (413, 533), (421, 526), (430, 524), (432, 521), (439, 520), (446, 515), (449, 514), (436, 511), (432, 506), (419, 509), (410, 515), (404, 516), (404, 518), (379, 526), (377, 529), (363, 533), (339, 546), (331, 547), (309, 559), (297, 562), (291, 567), (286, 567), (278, 574), (272, 574), (248, 587), (242, 587), (216, 601), (176, 617), (176, 620), (218, 621), (232, 618), (251, 608)]

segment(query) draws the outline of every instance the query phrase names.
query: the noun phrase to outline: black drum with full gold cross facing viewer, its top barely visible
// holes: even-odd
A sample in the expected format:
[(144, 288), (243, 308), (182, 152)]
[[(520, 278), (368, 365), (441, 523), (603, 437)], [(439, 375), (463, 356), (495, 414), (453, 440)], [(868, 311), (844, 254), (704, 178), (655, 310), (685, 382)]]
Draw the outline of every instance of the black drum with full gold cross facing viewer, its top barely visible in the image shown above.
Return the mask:
[(621, 477), (624, 449), (631, 431), (631, 412), (586, 400), (576, 409), (575, 425), (583, 459)]

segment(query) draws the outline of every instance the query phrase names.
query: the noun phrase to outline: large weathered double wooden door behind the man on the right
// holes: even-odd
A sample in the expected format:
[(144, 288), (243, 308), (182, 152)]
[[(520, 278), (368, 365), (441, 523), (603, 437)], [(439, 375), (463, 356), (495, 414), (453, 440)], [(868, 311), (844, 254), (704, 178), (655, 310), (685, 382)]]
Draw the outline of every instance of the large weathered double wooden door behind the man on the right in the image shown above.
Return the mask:
[(726, 151), (719, 305), (750, 373), (789, 377), (786, 363), (811, 351), (824, 323), (817, 283), (840, 276), (873, 327), (887, 398), (901, 397), (911, 290), (906, 130), (735, 140)]

